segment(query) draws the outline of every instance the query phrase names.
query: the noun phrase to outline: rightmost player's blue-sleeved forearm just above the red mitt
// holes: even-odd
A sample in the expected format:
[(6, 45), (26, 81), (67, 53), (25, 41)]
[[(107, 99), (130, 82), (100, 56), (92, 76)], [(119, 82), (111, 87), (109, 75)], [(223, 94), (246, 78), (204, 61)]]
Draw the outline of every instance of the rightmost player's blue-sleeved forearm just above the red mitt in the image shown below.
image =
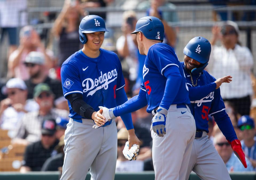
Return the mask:
[(214, 119), (227, 140), (231, 142), (238, 139), (231, 120), (224, 110), (214, 114)]

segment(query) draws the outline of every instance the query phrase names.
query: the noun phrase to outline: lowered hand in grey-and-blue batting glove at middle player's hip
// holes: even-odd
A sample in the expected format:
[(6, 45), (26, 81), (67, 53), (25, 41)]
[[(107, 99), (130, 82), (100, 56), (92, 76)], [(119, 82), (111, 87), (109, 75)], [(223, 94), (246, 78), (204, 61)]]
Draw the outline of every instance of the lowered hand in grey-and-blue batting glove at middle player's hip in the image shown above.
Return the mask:
[(152, 130), (157, 136), (164, 137), (164, 134), (166, 134), (165, 124), (167, 112), (167, 109), (159, 107), (156, 110), (155, 116), (152, 118)]

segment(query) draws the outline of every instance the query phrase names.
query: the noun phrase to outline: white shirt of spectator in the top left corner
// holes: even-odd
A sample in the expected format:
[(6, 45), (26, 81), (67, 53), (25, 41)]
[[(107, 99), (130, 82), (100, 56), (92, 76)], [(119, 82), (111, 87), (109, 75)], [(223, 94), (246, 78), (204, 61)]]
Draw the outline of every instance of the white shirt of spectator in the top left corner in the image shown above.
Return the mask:
[(0, 0), (0, 26), (18, 27), (27, 24), (27, 0)]

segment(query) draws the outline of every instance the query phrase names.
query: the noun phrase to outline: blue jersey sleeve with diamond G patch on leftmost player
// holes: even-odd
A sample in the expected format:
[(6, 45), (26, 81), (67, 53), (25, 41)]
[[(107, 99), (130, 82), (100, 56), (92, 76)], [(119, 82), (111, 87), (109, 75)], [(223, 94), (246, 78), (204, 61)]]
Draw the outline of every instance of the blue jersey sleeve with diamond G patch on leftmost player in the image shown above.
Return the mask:
[(83, 94), (79, 71), (71, 64), (63, 64), (61, 67), (61, 83), (64, 97), (72, 93)]

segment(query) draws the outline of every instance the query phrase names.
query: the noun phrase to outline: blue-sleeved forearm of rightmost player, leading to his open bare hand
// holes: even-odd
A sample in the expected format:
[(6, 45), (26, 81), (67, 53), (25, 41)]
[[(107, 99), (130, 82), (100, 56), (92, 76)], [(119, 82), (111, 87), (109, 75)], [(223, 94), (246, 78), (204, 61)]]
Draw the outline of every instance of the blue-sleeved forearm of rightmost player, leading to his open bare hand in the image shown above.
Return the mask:
[(188, 87), (188, 95), (191, 101), (200, 100), (206, 97), (210, 92), (215, 91), (216, 83), (202, 85), (200, 87)]

